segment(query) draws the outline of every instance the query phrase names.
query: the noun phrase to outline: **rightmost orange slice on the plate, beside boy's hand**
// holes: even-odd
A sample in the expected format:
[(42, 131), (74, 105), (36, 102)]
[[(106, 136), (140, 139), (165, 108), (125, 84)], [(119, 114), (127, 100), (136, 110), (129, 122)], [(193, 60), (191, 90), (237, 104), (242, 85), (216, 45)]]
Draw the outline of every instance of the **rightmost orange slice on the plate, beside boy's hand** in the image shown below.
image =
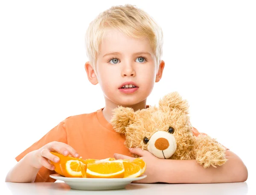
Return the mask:
[(124, 178), (137, 178), (142, 174), (142, 169), (140, 165), (136, 163), (133, 163), (131, 161), (123, 161), (123, 165), (125, 167)]

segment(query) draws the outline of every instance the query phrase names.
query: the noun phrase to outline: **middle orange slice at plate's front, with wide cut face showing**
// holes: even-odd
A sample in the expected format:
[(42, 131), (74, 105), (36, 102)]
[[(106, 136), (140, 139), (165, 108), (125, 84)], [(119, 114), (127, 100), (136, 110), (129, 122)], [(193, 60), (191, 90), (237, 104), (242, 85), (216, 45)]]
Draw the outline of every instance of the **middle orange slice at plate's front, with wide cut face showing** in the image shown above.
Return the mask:
[(87, 178), (123, 178), (125, 168), (122, 161), (99, 161), (87, 164)]

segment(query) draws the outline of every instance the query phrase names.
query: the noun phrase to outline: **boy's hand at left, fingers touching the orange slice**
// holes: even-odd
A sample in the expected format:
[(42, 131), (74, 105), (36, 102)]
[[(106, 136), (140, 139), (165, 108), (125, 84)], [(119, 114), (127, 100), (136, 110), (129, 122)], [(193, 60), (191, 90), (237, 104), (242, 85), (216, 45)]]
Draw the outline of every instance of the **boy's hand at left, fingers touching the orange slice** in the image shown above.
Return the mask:
[(41, 147), (38, 150), (30, 152), (31, 165), (37, 169), (40, 169), (42, 166), (44, 166), (47, 169), (54, 170), (55, 167), (50, 164), (48, 160), (57, 163), (60, 159), (57, 156), (53, 155), (51, 151), (59, 152), (64, 156), (71, 154), (75, 158), (79, 157), (79, 154), (77, 154), (76, 150), (73, 149), (71, 146), (67, 145), (66, 143), (53, 141), (47, 143), (45, 146)]

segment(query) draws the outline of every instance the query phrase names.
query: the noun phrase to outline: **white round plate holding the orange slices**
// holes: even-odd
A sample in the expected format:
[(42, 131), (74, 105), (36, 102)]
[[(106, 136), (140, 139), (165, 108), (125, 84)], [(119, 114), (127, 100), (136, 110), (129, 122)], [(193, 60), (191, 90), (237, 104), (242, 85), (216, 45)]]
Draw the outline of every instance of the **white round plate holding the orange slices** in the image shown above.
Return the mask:
[(52, 174), (50, 177), (64, 181), (71, 189), (110, 190), (123, 189), (132, 181), (144, 179), (147, 175), (140, 175), (140, 177), (137, 178), (66, 178), (59, 174)]

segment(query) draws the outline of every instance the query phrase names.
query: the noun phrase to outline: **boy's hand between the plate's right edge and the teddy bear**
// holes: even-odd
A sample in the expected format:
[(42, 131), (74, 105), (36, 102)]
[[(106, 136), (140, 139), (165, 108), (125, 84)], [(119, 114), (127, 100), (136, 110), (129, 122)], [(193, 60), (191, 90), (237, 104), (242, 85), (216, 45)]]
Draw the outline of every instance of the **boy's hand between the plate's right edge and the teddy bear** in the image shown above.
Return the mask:
[[(141, 156), (140, 158), (142, 158), (143, 161), (145, 161), (145, 163), (146, 163), (146, 170), (145, 170), (144, 174), (147, 175), (147, 177), (145, 179), (133, 181), (133, 183), (155, 183), (155, 182), (158, 182), (158, 179), (157, 179), (158, 174), (157, 174), (156, 167), (160, 166), (159, 165), (160, 159), (155, 157), (154, 155), (152, 155), (150, 152), (148, 152), (146, 150), (142, 150), (140, 148), (131, 148), (130, 152)], [(125, 155), (121, 155), (121, 154), (114, 154), (114, 158), (130, 159), (130, 160), (135, 159), (130, 156), (125, 156)]]

